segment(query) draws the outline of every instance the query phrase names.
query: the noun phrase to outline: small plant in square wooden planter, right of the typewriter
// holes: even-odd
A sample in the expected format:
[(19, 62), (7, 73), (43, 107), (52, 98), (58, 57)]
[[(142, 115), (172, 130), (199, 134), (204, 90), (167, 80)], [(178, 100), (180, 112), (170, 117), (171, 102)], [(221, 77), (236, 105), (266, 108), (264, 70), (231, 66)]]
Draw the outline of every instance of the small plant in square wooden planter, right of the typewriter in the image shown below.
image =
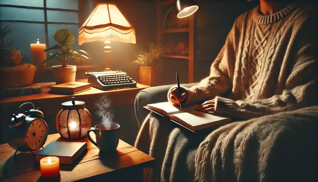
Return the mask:
[(133, 63), (139, 67), (139, 83), (143, 85), (156, 86), (156, 75), (158, 66), (154, 66), (156, 60), (164, 55), (166, 47), (162, 45), (149, 44), (149, 52), (141, 52)]

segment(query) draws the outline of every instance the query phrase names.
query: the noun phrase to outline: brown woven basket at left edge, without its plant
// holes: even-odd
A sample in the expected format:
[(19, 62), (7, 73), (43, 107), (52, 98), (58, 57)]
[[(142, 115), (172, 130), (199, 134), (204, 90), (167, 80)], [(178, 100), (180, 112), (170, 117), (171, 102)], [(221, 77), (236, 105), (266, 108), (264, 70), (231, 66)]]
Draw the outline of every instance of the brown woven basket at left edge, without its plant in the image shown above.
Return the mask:
[(31, 64), (0, 67), (0, 88), (24, 87), (33, 84), (36, 68)]

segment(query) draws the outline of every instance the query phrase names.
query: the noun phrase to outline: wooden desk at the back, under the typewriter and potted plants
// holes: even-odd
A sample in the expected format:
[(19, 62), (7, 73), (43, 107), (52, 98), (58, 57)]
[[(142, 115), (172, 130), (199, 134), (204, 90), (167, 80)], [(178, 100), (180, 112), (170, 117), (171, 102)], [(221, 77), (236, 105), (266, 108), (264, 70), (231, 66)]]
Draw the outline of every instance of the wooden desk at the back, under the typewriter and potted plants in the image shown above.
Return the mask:
[[(76, 80), (79, 82), (87, 82), (87, 79)], [(83, 91), (74, 95), (59, 95), (49, 93), (49, 86), (55, 85), (55, 82), (37, 83), (31, 86), (41, 86), (42, 93), (34, 95), (26, 95), (19, 97), (0, 98), (0, 143), (6, 142), (6, 130), (10, 124), (12, 114), (18, 112), (18, 108), (25, 102), (32, 102), (36, 108), (44, 113), (44, 119), (47, 115), (55, 115), (62, 109), (61, 104), (66, 101), (70, 101), (72, 97), (76, 100), (84, 101), (87, 109), (97, 108), (95, 102), (102, 96), (107, 95), (111, 101), (111, 106), (122, 106), (126, 104), (135, 103), (135, 97), (137, 93), (145, 88), (147, 85), (137, 83), (136, 88), (117, 89), (111, 91), (102, 91), (91, 87), (90, 90)], [(26, 106), (21, 109), (22, 112), (31, 109), (30, 106)]]

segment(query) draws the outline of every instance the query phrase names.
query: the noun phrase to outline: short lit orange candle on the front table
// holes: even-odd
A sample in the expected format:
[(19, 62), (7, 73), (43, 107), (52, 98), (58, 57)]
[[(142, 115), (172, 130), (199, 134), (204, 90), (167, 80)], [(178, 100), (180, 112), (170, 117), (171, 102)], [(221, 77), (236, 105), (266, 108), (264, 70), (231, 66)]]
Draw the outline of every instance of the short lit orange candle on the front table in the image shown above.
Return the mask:
[(59, 158), (44, 157), (40, 160), (40, 169), (42, 178), (50, 179), (59, 176)]

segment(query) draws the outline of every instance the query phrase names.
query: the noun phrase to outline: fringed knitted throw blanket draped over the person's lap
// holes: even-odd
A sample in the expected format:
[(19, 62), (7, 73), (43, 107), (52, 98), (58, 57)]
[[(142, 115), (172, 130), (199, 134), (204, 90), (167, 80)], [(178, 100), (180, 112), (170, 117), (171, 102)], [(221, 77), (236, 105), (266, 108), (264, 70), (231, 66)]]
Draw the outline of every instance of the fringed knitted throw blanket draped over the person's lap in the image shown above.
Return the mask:
[(150, 113), (135, 147), (156, 159), (145, 182), (317, 181), (317, 130), (318, 106), (198, 133)]

